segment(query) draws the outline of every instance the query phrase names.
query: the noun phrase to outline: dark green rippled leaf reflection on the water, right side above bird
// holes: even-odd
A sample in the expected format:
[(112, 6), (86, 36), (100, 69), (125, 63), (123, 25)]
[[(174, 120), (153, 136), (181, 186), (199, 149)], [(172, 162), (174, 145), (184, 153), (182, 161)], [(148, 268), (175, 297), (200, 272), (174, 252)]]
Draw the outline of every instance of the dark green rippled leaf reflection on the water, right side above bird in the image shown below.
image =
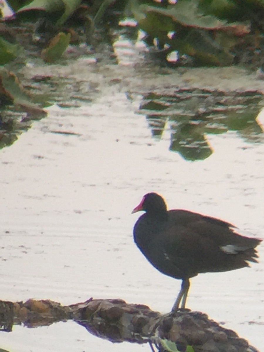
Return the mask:
[(140, 113), (146, 114), (156, 139), (162, 138), (169, 122), (169, 150), (194, 161), (206, 159), (213, 153), (207, 134), (237, 131), (247, 142), (263, 142), (264, 130), (256, 121), (262, 102), (263, 96), (258, 92), (178, 89), (175, 95), (146, 95)]

